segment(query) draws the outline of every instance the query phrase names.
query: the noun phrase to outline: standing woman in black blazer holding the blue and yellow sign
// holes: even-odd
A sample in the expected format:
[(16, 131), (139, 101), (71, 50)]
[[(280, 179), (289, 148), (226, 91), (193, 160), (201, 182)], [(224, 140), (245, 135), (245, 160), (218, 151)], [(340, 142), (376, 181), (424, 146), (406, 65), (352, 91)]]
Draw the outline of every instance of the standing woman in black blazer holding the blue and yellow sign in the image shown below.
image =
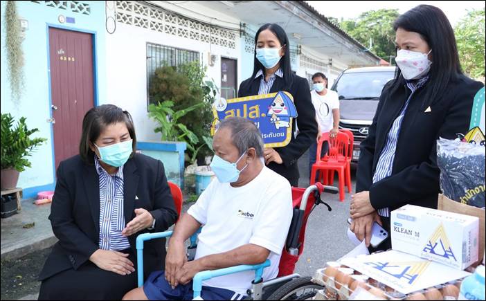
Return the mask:
[(298, 117), (293, 120), (290, 143), (285, 147), (265, 149), (264, 160), (271, 170), (297, 187), (297, 161), (316, 140), (317, 123), (309, 83), (305, 78), (291, 72), (289, 48), (289, 38), (282, 27), (277, 24), (260, 27), (255, 35), (253, 74), (240, 84), (238, 97), (278, 91), (287, 91), (294, 97)]

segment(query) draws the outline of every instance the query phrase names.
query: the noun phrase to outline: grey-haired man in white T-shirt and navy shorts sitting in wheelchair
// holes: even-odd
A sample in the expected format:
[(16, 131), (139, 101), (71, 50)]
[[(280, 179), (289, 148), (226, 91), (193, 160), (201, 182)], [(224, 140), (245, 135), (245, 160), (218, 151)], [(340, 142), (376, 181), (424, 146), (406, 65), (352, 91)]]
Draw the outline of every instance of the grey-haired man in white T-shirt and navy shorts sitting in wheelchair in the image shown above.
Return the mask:
[[(289, 182), (264, 166), (263, 141), (244, 118), (219, 124), (211, 168), (217, 176), (176, 224), (169, 241), (165, 271), (152, 273), (124, 300), (192, 300), (192, 278), (200, 271), (270, 259), (263, 279), (277, 277), (278, 263), (292, 218)], [(184, 241), (203, 227), (195, 259), (188, 261)], [(205, 300), (241, 300), (253, 271), (203, 282)]]

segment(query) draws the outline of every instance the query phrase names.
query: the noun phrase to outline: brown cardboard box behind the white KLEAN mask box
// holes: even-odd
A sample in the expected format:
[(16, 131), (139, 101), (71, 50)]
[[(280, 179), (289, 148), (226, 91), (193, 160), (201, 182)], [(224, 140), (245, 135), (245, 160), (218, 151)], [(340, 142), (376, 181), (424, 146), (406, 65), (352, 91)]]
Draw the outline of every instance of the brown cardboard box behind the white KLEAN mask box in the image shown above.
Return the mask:
[(453, 201), (444, 194), (439, 194), (438, 209), (448, 212), (455, 212), (461, 215), (471, 215), (472, 217), (478, 217), (479, 219), (479, 254), (478, 261), (480, 262), (485, 255), (485, 210), (474, 206), (462, 204), (457, 201)]

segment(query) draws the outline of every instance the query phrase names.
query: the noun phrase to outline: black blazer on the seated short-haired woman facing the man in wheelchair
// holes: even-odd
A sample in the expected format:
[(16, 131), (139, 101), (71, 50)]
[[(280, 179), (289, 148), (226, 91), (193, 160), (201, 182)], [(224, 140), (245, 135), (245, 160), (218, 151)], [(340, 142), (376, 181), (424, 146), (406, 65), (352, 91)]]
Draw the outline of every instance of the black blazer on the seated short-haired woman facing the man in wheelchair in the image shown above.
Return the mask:
[[(136, 208), (150, 211), (156, 219), (153, 230), (128, 237), (136, 254), (136, 237), (143, 232), (167, 230), (177, 220), (177, 212), (161, 161), (135, 154), (123, 167), (123, 183), (125, 225), (134, 219)], [(60, 163), (49, 219), (59, 241), (39, 275), (41, 281), (69, 268), (77, 270), (98, 250), (100, 189), (94, 164), (87, 165), (79, 155)], [(145, 241), (143, 250), (145, 277), (162, 270), (165, 239)]]

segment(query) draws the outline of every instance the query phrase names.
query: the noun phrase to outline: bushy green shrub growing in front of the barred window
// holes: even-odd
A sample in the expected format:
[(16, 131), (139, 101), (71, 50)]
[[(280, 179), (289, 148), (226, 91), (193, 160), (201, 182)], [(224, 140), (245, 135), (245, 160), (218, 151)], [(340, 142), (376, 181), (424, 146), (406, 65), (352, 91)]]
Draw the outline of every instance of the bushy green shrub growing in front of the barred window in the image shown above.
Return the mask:
[[(186, 112), (178, 118), (181, 125), (186, 126), (197, 137), (188, 140), (188, 154), (191, 162), (210, 154), (210, 147), (204, 140), (209, 136), (213, 111), (211, 105), (217, 95), (214, 83), (205, 80), (206, 68), (199, 62), (190, 62), (180, 66), (163, 66), (156, 69), (150, 82), (150, 102), (157, 104), (170, 100), (172, 111), (184, 111), (186, 108), (199, 104), (197, 110)], [(180, 129), (180, 128), (179, 128)]]

